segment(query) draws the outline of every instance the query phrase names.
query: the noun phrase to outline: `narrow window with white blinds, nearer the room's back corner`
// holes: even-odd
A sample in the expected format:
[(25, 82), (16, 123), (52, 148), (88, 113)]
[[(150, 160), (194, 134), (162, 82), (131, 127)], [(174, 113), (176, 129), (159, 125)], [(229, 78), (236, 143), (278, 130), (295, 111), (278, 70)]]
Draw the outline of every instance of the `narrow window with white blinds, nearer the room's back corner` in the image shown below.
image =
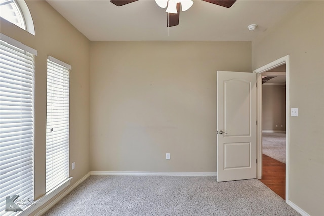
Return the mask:
[(69, 178), (69, 69), (47, 60), (46, 192)]

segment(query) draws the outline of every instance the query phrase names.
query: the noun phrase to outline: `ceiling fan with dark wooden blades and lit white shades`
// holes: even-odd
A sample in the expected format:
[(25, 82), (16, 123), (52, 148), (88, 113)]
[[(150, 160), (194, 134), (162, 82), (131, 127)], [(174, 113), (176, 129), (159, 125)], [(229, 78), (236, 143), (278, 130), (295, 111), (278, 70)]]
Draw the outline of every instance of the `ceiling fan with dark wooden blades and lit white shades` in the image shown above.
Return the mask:
[[(122, 6), (136, 1), (138, 0), (110, 0), (110, 2), (112, 2), (116, 6)], [(202, 1), (229, 8), (235, 3), (236, 0), (202, 0)], [(155, 0), (155, 2), (161, 8), (166, 8), (168, 6), (166, 10), (166, 12), (168, 13), (167, 27), (179, 25), (179, 16), (180, 16), (179, 13), (180, 13), (181, 4), (183, 4), (181, 5), (182, 11), (189, 9), (193, 4), (192, 0)], [(186, 3), (185, 4), (186, 6), (184, 5), (184, 3)], [(171, 8), (171, 6), (172, 7), (174, 6), (174, 8)]]

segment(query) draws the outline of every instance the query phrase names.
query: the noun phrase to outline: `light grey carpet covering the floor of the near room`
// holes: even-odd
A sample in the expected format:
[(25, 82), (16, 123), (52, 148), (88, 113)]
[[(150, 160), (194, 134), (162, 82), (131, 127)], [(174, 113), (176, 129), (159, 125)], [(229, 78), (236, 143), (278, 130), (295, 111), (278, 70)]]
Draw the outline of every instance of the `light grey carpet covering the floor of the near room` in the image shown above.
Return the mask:
[(90, 176), (45, 215), (299, 215), (257, 179)]

